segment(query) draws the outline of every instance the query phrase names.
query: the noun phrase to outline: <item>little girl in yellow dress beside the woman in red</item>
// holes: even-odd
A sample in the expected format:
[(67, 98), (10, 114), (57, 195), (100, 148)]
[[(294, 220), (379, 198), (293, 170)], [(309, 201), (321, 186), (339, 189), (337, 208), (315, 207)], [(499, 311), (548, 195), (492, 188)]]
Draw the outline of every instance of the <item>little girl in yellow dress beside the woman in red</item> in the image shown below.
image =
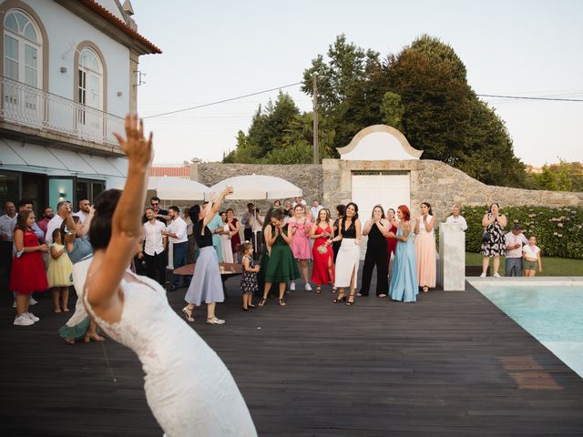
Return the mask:
[(53, 244), (50, 249), (51, 258), (48, 261), (48, 270), (46, 271), (46, 279), (48, 279), (48, 286), (53, 289), (53, 306), (55, 312), (61, 312), (59, 308), (59, 294), (63, 299), (63, 311), (69, 312), (69, 286), (71, 282), (71, 274), (73, 273), (73, 263), (65, 252), (65, 245), (63, 244), (63, 236), (61, 229), (53, 231)]

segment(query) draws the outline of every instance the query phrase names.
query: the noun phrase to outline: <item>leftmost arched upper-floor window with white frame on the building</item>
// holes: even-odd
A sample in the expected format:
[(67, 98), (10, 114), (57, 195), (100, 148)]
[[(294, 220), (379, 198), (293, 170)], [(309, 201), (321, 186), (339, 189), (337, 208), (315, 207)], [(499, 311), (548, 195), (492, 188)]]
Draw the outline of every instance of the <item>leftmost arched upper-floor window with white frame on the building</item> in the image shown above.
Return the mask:
[(39, 87), (42, 44), (40, 29), (30, 15), (20, 9), (10, 10), (4, 19), (4, 76)]

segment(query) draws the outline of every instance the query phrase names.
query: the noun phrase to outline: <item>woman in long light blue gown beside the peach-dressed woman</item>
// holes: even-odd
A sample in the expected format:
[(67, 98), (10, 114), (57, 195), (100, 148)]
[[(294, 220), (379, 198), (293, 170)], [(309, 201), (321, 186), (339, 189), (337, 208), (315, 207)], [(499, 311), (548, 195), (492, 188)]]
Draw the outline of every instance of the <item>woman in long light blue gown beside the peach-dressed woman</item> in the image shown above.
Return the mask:
[(397, 209), (397, 218), (401, 220), (401, 224), (396, 235), (394, 232), (389, 232), (388, 235), (389, 238), (397, 240), (389, 295), (393, 300), (414, 302), (417, 300), (419, 284), (417, 282), (417, 262), (411, 222), (409, 221), (411, 219), (409, 208), (401, 205)]

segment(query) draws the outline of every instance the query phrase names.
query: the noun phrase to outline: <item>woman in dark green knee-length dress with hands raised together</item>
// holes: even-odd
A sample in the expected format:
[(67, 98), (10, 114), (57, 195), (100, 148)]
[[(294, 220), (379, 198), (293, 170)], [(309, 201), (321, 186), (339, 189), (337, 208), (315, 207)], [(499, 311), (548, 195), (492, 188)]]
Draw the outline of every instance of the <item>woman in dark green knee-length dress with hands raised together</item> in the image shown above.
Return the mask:
[(265, 237), (265, 250), (261, 257), (261, 277), (265, 282), (263, 288), (263, 299), (259, 306), (265, 305), (267, 295), (271, 289), (271, 284), (280, 284), (279, 303), (283, 307), (283, 294), (287, 282), (300, 278), (300, 269), (295, 259), (293, 259), (290, 243), (292, 242), (292, 231), (288, 225), (283, 224), (283, 213), (281, 209), (271, 209), (270, 223), (265, 227), (263, 233)]

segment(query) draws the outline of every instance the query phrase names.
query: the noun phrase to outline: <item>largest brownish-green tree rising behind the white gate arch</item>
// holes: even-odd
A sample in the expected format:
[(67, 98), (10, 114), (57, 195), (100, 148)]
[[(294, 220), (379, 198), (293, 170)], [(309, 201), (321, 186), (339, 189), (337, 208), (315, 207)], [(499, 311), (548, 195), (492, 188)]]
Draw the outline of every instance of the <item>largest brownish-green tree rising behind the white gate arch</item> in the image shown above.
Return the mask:
[(486, 184), (523, 187), (524, 164), (504, 122), (476, 97), (455, 51), (420, 36), (386, 62), (389, 87), (402, 97), (403, 129), (424, 159), (437, 159)]

